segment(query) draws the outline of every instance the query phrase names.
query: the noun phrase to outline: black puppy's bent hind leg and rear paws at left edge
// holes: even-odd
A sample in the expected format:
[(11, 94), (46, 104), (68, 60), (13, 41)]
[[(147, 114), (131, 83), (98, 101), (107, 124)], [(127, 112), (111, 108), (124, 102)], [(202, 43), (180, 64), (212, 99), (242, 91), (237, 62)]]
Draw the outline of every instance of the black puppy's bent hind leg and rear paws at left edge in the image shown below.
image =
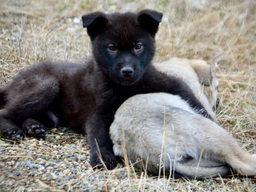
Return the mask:
[[(7, 102), (3, 113), (0, 113), (0, 131), (10, 138), (19, 139), (22, 139), (24, 134), (44, 134), (45, 128), (42, 124), (36, 122), (36, 128), (34, 121), (28, 119), (45, 114), (58, 97), (59, 90), (58, 80), (45, 74), (14, 79), (6, 88)], [(20, 136), (22, 134), (23, 136)]]

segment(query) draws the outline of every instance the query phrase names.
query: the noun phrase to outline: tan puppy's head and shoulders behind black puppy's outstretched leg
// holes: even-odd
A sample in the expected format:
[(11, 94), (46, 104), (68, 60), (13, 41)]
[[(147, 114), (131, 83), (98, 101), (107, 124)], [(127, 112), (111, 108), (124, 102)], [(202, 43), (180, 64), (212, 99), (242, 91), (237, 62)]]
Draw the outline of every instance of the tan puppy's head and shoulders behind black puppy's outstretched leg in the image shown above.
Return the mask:
[(215, 116), (212, 109), (216, 106), (219, 81), (212, 72), (211, 65), (204, 60), (172, 58), (162, 63), (156, 63), (154, 66), (161, 72), (185, 81), (205, 109), (211, 116)]

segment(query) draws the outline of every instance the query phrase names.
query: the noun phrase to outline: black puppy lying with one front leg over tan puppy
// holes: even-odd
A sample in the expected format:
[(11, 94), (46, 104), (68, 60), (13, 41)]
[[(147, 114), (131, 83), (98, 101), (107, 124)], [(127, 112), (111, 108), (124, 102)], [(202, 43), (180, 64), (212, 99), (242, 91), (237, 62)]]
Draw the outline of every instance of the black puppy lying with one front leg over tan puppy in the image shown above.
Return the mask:
[(0, 88), (4, 106), (0, 131), (19, 139), (41, 136), (46, 131), (44, 125), (52, 120), (88, 135), (92, 166), (102, 164), (102, 157), (106, 166), (113, 168), (116, 158), (109, 126), (116, 109), (132, 95), (177, 94), (211, 118), (185, 83), (150, 65), (161, 18), (162, 13), (153, 10), (84, 15), (93, 60), (86, 65), (42, 62), (20, 72)]

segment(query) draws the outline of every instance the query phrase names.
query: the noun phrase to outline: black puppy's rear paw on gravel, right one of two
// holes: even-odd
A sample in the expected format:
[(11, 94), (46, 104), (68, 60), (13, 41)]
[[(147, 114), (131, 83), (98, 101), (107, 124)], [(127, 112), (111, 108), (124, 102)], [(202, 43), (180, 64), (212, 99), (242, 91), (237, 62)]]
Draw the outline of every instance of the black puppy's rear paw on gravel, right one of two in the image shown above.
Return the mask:
[(42, 138), (47, 133), (47, 129), (40, 122), (28, 118), (22, 124), (22, 130), (25, 132), (26, 136), (34, 136), (36, 138)]

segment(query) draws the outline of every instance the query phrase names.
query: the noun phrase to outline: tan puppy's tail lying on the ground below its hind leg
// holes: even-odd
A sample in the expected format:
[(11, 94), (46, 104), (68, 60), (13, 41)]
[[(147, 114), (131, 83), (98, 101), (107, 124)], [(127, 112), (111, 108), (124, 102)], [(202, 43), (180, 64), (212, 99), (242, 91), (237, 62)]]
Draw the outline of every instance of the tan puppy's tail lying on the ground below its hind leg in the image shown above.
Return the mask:
[(190, 179), (200, 179), (203, 177), (218, 177), (225, 176), (230, 173), (230, 168), (227, 164), (216, 163), (211, 160), (201, 160), (198, 166), (196, 163), (175, 163), (175, 173), (182, 175), (182, 177), (189, 177)]

